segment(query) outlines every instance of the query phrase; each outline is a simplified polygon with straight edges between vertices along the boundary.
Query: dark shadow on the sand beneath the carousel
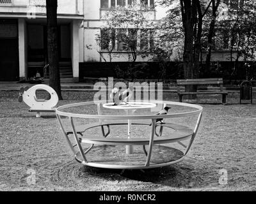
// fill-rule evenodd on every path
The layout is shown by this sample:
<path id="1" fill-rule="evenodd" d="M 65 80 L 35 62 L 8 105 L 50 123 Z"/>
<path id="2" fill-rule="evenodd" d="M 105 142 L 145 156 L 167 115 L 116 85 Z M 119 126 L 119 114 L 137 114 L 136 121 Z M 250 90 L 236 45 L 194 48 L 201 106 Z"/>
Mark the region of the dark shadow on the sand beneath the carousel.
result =
<path id="1" fill-rule="evenodd" d="M 102 179 L 136 180 L 179 188 L 197 187 L 200 186 L 200 182 L 202 182 L 200 174 L 198 172 L 195 173 L 195 171 L 193 171 L 193 167 L 180 164 L 148 170 L 124 171 L 83 166 L 81 167 L 81 171 Z"/>

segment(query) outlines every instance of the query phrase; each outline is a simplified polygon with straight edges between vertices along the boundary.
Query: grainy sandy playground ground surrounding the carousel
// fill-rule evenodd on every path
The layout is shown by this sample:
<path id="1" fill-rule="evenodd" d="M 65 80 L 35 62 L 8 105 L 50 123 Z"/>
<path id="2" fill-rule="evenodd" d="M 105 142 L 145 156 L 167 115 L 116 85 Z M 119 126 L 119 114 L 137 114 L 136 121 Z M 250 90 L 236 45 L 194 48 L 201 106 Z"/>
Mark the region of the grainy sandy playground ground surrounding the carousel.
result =
<path id="1" fill-rule="evenodd" d="M 59 105 L 90 101 L 93 94 L 63 92 Z M 202 123 L 184 161 L 122 174 L 77 163 L 54 113 L 36 119 L 28 106 L 17 102 L 17 91 L 1 91 L 0 96 L 1 191 L 256 190 L 256 106 L 237 104 L 238 94 L 229 94 L 232 104 L 227 106 L 202 105 Z M 177 96 L 169 93 L 164 99 L 177 101 Z M 220 98 L 212 96 L 209 101 L 215 100 Z M 223 185 L 219 182 L 222 169 L 227 170 Z"/>

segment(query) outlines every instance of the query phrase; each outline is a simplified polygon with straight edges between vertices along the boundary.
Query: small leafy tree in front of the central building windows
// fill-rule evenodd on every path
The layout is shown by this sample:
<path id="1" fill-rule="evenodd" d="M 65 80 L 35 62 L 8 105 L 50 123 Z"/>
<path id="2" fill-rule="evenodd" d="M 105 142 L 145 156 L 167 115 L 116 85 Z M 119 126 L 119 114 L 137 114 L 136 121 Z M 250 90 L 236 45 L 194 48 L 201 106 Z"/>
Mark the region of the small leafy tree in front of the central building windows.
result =
<path id="1" fill-rule="evenodd" d="M 127 52 L 129 62 L 136 61 L 138 54 L 141 53 L 137 49 L 140 46 L 137 43 L 138 33 L 148 29 L 146 10 L 147 8 L 138 4 L 117 6 L 115 10 L 109 10 L 102 17 L 106 24 L 102 27 L 101 34 L 97 34 L 96 41 L 101 49 L 108 51 L 109 60 L 116 48 L 116 51 Z"/>

